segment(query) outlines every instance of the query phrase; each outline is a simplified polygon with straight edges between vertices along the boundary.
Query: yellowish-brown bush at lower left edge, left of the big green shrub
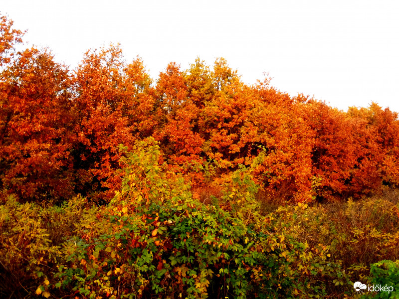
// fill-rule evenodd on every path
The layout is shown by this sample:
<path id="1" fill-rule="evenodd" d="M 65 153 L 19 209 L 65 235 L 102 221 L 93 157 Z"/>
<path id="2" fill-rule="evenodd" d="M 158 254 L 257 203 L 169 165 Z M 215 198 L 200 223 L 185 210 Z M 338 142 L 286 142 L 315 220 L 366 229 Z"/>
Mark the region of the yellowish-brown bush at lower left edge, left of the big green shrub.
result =
<path id="1" fill-rule="evenodd" d="M 2 297 L 25 298 L 38 283 L 47 286 L 63 261 L 63 242 L 102 226 L 95 217 L 98 208 L 86 204 L 79 196 L 62 206 L 20 204 L 10 196 L 0 205 L 0 267 L 6 274 L 0 280 Z M 50 295 L 44 287 L 38 293 Z"/>

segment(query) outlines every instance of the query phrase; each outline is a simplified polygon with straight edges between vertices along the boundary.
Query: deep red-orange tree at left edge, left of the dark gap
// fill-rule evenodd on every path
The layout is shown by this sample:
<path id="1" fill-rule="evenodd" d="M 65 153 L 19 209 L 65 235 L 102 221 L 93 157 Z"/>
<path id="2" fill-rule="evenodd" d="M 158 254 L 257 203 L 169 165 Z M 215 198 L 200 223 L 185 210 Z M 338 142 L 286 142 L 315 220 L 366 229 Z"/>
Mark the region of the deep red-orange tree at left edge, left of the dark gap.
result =
<path id="1" fill-rule="evenodd" d="M 26 49 L 1 73 L 0 93 L 1 189 L 23 201 L 69 197 L 67 68 L 48 50 Z"/>

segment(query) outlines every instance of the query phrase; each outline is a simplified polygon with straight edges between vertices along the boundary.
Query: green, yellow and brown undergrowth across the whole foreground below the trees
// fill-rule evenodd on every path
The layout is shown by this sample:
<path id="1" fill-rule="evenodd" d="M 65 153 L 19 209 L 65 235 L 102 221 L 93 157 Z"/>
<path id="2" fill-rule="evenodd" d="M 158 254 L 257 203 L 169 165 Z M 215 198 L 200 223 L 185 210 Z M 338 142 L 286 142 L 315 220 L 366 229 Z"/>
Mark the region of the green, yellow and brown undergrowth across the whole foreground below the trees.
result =
<path id="1" fill-rule="evenodd" d="M 121 151 L 122 188 L 106 206 L 0 206 L 1 297 L 357 298 L 356 281 L 398 285 L 395 190 L 281 206 L 254 165 L 192 189 L 159 164 L 153 139 Z"/>

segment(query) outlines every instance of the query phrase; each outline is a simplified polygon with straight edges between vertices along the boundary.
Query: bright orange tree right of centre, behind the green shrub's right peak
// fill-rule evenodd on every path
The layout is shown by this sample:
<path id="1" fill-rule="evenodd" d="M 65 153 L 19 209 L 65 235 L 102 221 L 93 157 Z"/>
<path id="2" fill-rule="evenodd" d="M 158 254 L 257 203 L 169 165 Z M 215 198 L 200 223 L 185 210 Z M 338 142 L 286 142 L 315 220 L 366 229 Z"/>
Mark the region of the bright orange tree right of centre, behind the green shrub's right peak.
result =
<path id="1" fill-rule="evenodd" d="M 253 132 L 247 141 L 252 140 L 252 147 L 260 147 L 264 154 L 256 177 L 282 201 L 310 201 L 313 132 L 303 117 L 307 98 L 291 98 L 268 84 L 266 80 L 254 88 L 258 107 L 252 114 Z"/>

